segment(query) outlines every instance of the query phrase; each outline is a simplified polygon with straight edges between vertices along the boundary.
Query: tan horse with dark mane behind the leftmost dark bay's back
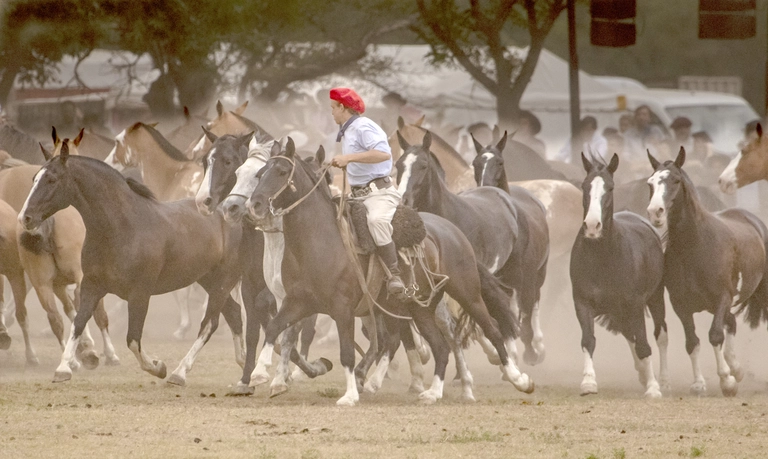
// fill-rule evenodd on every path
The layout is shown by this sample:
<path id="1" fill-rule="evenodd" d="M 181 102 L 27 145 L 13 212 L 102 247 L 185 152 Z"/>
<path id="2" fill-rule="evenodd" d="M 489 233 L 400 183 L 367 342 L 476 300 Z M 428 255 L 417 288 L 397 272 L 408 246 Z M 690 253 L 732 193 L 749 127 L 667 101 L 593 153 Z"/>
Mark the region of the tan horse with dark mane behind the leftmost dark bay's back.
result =
<path id="1" fill-rule="evenodd" d="M 153 125 L 135 123 L 115 137 L 105 160 L 117 170 L 135 167 L 144 184 L 161 201 L 194 196 L 203 179 L 203 167 L 190 161 Z"/>

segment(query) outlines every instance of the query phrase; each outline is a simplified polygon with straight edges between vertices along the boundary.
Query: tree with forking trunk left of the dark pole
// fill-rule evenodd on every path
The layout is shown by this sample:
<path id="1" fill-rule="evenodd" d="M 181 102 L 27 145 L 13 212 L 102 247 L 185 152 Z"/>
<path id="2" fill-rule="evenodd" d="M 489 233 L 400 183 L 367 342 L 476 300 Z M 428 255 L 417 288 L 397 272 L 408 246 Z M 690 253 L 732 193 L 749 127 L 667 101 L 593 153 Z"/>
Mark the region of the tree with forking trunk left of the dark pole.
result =
<path id="1" fill-rule="evenodd" d="M 456 63 L 496 96 L 499 124 L 514 123 L 520 99 L 531 80 L 544 40 L 565 0 L 417 0 L 420 23 L 414 27 L 430 44 L 433 63 Z M 523 58 L 508 49 L 512 29 L 529 39 Z"/>

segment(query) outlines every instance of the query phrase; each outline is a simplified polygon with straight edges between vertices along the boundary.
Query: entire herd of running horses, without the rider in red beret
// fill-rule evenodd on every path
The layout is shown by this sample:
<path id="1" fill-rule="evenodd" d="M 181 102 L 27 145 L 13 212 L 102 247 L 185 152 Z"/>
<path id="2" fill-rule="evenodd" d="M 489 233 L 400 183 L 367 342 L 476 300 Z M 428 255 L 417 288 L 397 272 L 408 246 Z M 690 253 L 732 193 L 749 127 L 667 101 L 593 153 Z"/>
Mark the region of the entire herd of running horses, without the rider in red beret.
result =
<path id="1" fill-rule="evenodd" d="M 649 153 L 649 178 L 640 183 L 614 183 L 617 155 L 607 161 L 582 154 L 583 180 L 568 180 L 506 133 L 490 145 L 475 141 L 477 154 L 468 165 L 421 120 L 399 119 L 390 137 L 393 175 L 403 205 L 418 212 L 425 232 L 416 246 L 399 247 L 412 286 L 401 301 L 380 288 L 383 274 L 373 255 L 351 247 L 352 223 L 344 218 L 346 199 L 339 198 L 344 185 L 340 175 L 331 175 L 323 148 L 297 151 L 292 139 L 276 140 L 245 118 L 245 108 L 226 111 L 219 103 L 218 116 L 204 121 L 202 130 L 199 124 L 193 129 L 201 121 L 188 116 L 167 136 L 138 122 L 115 137 L 110 152 L 97 154 L 81 151 L 89 137 L 84 131 L 70 140 L 54 129 L 53 151 L 40 146 L 42 167 L 0 172 L 0 274 L 13 290 L 28 364 L 38 361 L 24 306 L 26 278 L 62 347 L 55 382 L 69 380 L 80 365 L 99 365 L 87 327 L 91 317 L 102 334 L 105 363 L 119 363 L 103 303 L 108 293 L 127 303 L 127 345 L 141 368 L 165 379 L 165 363 L 142 346 L 149 300 L 196 284 L 207 294 L 205 313 L 170 384 L 186 384 L 223 316 L 243 369 L 231 391 L 252 394 L 271 378 L 270 396 L 277 396 L 299 373 L 315 378 L 332 369 L 325 358 L 308 359 L 317 315 L 326 314 L 337 326 L 346 377 L 339 405 L 355 405 L 363 390 L 375 393 L 401 344 L 410 389 L 423 402 L 442 398 L 451 353 L 462 398 L 474 400 L 463 354 L 471 340 L 505 381 L 530 393 L 535 385 L 521 363 L 545 360 L 541 317 L 548 310 L 541 289 L 554 278 L 572 285 L 582 330 L 582 395 L 597 393 L 595 323 L 627 340 L 646 397 L 661 397 L 669 387 L 665 289 L 685 331 L 692 392 L 706 391 L 693 314 L 708 311 L 722 393 L 736 394 L 744 376 L 733 349 L 736 316 L 743 313 L 752 327 L 768 322 L 768 229 L 745 210 L 702 200 L 709 191 L 685 172 L 683 149 L 663 163 Z M 723 172 L 720 187 L 733 192 L 766 176 L 768 140 L 758 128 L 758 137 Z M 74 298 L 69 285 L 75 285 Z M 68 336 L 55 297 L 72 321 Z M 660 354 L 658 379 L 646 311 Z M 355 342 L 356 317 L 370 341 L 365 351 Z M 177 336 L 185 327 L 188 312 Z M 427 389 L 421 338 L 435 361 Z M 10 345 L 0 321 L 0 349 Z M 357 366 L 356 347 L 363 354 Z M 272 377 L 273 353 L 278 364 Z"/>

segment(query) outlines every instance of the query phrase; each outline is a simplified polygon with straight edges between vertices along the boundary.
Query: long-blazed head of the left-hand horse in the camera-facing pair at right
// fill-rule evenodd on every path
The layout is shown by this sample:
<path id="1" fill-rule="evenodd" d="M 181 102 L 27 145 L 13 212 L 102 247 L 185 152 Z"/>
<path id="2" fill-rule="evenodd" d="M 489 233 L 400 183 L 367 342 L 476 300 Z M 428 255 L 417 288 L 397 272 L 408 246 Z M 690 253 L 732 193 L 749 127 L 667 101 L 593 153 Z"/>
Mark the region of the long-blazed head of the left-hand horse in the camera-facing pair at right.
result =
<path id="1" fill-rule="evenodd" d="M 587 176 L 581 185 L 584 206 L 584 237 L 599 239 L 613 218 L 613 174 L 619 167 L 619 155 L 613 154 L 611 162 L 602 159 L 592 161 L 581 153 L 581 161 Z"/>

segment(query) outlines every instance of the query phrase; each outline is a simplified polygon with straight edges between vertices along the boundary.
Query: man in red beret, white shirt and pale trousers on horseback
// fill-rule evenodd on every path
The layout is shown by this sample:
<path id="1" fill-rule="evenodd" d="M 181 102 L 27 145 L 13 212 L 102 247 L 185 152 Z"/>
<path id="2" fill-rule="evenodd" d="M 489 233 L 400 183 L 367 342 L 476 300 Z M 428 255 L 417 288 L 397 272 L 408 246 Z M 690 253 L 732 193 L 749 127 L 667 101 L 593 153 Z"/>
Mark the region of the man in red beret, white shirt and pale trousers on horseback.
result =
<path id="1" fill-rule="evenodd" d="M 352 197 L 360 200 L 368 211 L 368 229 L 376 243 L 376 254 L 389 269 L 387 293 L 398 298 L 405 295 L 400 278 L 397 249 L 392 242 L 392 217 L 402 197 L 392 183 L 392 150 L 387 135 L 365 112 L 363 99 L 349 88 L 333 88 L 330 92 L 331 114 L 339 125 L 336 142 L 341 142 L 341 155 L 331 164 L 346 168 Z"/>

